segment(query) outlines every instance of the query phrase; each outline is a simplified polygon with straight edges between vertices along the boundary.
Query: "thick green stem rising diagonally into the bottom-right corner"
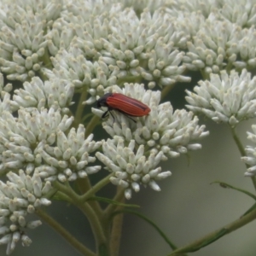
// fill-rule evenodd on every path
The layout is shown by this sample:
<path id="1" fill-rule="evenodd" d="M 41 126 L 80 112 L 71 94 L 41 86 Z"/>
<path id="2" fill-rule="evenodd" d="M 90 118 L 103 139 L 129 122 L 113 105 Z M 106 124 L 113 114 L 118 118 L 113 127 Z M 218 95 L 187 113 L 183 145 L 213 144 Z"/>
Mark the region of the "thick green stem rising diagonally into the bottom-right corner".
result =
<path id="1" fill-rule="evenodd" d="M 222 236 L 225 236 L 232 231 L 235 231 L 244 225 L 252 222 L 256 218 L 256 209 L 254 209 L 252 212 L 247 213 L 247 215 L 242 216 L 239 219 L 236 219 L 234 222 L 225 225 L 223 228 L 220 228 L 218 230 L 215 230 L 214 232 L 208 234 L 207 236 L 202 237 L 201 239 L 194 241 L 190 243 L 189 245 L 185 247 L 180 247 L 177 250 L 173 251 L 169 254 L 169 256 L 177 256 L 181 255 L 181 253 L 191 253 L 195 252 L 202 247 L 206 247 L 207 245 L 211 244 L 213 241 L 218 240 Z"/>

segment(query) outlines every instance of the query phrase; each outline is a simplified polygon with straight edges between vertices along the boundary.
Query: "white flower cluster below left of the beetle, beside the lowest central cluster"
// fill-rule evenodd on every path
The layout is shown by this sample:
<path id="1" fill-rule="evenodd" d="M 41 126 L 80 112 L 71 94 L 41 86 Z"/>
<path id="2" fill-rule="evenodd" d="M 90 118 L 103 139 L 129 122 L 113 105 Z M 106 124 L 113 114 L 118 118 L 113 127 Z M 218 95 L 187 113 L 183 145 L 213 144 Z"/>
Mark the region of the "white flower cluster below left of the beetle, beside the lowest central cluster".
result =
<path id="1" fill-rule="evenodd" d="M 61 182 L 73 181 L 101 169 L 101 166 L 88 165 L 96 160 L 90 153 L 96 151 L 102 143 L 92 141 L 92 134 L 84 139 L 84 134 L 84 125 L 79 125 L 77 131 L 72 128 L 67 136 L 57 129 L 56 146 L 40 148 L 38 152 L 46 165 L 38 166 L 35 170 L 44 180 L 54 181 L 57 178 Z"/>

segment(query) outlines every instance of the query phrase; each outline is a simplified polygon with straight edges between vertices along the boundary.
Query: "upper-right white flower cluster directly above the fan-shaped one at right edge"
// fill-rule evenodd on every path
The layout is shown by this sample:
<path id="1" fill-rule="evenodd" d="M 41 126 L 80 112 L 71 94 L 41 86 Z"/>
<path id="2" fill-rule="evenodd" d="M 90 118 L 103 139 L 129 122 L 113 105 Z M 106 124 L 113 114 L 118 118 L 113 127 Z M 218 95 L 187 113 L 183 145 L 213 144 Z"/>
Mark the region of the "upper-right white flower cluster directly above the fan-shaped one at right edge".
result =
<path id="1" fill-rule="evenodd" d="M 184 64 L 190 70 L 219 73 L 228 63 L 234 65 L 236 62 L 236 45 L 240 39 L 239 26 L 229 20 L 220 21 L 216 15 L 210 15 L 195 37 L 187 43 L 189 51 L 183 57 Z"/>

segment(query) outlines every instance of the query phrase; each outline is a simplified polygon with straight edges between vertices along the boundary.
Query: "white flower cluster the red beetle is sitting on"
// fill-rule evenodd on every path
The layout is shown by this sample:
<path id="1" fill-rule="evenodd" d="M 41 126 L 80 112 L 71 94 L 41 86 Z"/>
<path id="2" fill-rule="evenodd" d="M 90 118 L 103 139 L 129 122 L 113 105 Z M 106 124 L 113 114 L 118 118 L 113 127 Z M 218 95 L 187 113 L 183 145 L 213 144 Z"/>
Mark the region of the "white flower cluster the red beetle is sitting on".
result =
<path id="1" fill-rule="evenodd" d="M 110 115 L 103 123 L 111 137 L 123 137 L 126 142 L 134 139 L 137 144 L 148 147 L 151 153 L 162 152 L 162 160 L 201 148 L 200 144 L 191 142 L 208 135 L 205 125 L 198 125 L 198 118 L 184 109 L 173 113 L 170 102 L 159 104 L 160 91 L 144 90 L 143 84 L 125 84 L 123 90 L 113 86 L 112 91 L 145 103 L 151 112 L 148 116 L 133 118 L 135 123 L 123 113 L 113 111 L 114 120 Z M 92 112 L 100 117 L 104 113 L 96 108 L 92 108 Z"/>

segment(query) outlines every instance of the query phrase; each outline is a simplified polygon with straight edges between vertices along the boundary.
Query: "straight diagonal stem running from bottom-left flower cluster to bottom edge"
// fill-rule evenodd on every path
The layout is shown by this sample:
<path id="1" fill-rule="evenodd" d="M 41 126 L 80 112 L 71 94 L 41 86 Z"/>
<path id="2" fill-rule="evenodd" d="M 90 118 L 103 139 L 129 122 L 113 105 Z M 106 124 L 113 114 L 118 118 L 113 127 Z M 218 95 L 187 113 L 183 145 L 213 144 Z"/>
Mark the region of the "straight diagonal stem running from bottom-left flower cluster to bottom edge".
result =
<path id="1" fill-rule="evenodd" d="M 67 230 L 65 230 L 61 224 L 55 221 L 54 218 L 51 218 L 46 212 L 41 209 L 37 209 L 36 211 L 39 218 L 43 219 L 50 227 L 52 227 L 56 232 L 58 232 L 62 237 L 66 239 L 79 253 L 84 256 L 96 256 L 96 253 L 93 253 L 87 247 L 75 239 Z"/>

